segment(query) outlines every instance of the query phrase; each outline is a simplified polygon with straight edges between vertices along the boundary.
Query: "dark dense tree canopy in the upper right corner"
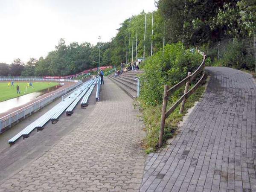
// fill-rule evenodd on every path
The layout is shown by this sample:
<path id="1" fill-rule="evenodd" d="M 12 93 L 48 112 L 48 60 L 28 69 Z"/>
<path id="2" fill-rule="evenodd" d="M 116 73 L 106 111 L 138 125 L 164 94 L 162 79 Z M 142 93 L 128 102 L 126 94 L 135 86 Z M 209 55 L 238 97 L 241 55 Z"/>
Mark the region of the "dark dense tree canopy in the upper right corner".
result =
<path id="1" fill-rule="evenodd" d="M 171 42 L 195 46 L 256 32 L 255 0 L 159 0 L 157 6 Z"/>

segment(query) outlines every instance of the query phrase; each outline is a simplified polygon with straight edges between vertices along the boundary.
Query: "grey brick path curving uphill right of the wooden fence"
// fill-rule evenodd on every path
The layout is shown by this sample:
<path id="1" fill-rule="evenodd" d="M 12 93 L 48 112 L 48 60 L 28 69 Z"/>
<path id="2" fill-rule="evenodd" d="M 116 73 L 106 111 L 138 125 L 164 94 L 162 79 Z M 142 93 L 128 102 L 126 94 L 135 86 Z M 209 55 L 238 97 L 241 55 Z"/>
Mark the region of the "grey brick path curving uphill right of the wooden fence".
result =
<path id="1" fill-rule="evenodd" d="M 256 191 L 256 84 L 226 67 L 166 150 L 146 160 L 140 191 Z"/>

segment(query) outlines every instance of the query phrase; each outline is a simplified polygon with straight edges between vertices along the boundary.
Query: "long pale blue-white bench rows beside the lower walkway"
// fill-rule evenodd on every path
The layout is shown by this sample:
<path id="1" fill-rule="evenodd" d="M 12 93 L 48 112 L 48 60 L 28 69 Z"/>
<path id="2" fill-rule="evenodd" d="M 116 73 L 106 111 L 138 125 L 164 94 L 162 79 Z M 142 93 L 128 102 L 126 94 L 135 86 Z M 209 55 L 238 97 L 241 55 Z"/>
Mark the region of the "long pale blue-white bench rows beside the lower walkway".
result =
<path id="1" fill-rule="evenodd" d="M 66 110 L 67 115 L 71 115 L 73 112 L 73 109 L 76 107 L 77 103 L 80 101 L 80 99 L 84 96 L 87 97 L 87 99 L 83 98 L 82 101 L 86 101 L 90 96 L 90 94 L 93 91 L 93 87 L 95 86 L 96 82 L 99 81 L 99 77 L 96 77 L 95 79 L 90 79 L 89 81 L 83 83 L 80 87 L 78 87 L 76 90 L 73 91 L 69 96 L 67 96 L 65 99 L 63 99 L 61 102 L 59 102 L 57 105 L 55 105 L 52 109 L 44 113 L 41 117 L 36 119 L 34 122 L 32 122 L 30 125 L 28 125 L 26 128 L 24 128 L 22 131 L 20 131 L 18 134 L 16 134 L 14 137 L 12 137 L 10 140 L 8 140 L 9 144 L 14 144 L 15 141 L 17 141 L 20 137 L 23 136 L 23 138 L 29 137 L 29 134 L 37 128 L 38 130 L 42 130 L 44 128 L 44 125 L 51 120 L 52 124 L 56 123 L 58 121 L 58 117 L 61 116 L 61 114 Z M 90 93 L 89 93 L 90 92 Z"/>

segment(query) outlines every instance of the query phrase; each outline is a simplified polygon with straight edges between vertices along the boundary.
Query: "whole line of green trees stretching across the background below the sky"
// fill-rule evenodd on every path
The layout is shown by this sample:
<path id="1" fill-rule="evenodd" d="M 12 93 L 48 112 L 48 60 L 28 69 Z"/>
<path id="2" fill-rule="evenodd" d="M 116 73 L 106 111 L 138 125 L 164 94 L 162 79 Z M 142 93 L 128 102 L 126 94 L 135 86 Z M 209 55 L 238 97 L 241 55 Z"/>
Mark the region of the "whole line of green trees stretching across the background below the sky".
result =
<path id="1" fill-rule="evenodd" d="M 99 49 L 100 65 L 116 66 L 134 61 L 136 55 L 143 57 L 144 46 L 145 57 L 150 56 L 151 41 L 155 53 L 164 44 L 183 42 L 186 47 L 209 47 L 221 39 L 256 34 L 255 0 L 158 0 L 156 6 L 153 26 L 152 12 L 143 11 L 121 23 L 110 42 L 66 45 L 60 39 L 45 58 L 31 58 L 26 64 L 20 59 L 11 65 L 0 64 L 0 75 L 64 76 L 97 67 Z"/>

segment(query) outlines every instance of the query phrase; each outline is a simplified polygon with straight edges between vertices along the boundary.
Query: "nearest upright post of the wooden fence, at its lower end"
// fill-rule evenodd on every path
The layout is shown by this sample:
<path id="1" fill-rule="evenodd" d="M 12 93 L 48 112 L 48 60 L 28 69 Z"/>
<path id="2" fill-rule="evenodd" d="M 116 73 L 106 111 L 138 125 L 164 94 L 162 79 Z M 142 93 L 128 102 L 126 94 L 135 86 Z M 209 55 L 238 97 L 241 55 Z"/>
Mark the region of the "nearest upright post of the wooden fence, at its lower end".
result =
<path id="1" fill-rule="evenodd" d="M 160 133 L 159 133 L 159 143 L 158 146 L 162 147 L 163 145 L 163 134 L 164 134 L 164 126 L 165 126 L 165 119 L 166 119 L 166 106 L 167 106 L 167 90 L 169 86 L 165 85 L 163 90 L 163 108 L 162 108 L 162 116 L 161 116 L 161 125 L 160 125 Z"/>

